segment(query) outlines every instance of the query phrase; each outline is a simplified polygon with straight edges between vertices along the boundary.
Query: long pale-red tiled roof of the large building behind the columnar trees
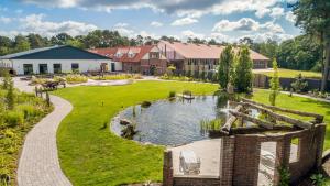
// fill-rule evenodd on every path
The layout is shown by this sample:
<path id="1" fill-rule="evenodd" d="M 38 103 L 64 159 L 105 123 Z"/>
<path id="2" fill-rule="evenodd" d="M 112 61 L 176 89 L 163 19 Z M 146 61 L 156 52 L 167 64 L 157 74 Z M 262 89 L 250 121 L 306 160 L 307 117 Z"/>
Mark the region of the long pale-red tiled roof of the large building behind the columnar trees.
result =
<path id="1" fill-rule="evenodd" d="M 206 45 L 206 44 L 193 44 L 193 43 L 167 42 L 167 41 L 161 41 L 161 42 L 175 50 L 185 58 L 218 59 L 220 57 L 220 54 L 224 50 L 224 46 L 221 45 Z M 252 50 L 250 50 L 250 54 L 252 59 L 268 61 L 267 57 Z"/>

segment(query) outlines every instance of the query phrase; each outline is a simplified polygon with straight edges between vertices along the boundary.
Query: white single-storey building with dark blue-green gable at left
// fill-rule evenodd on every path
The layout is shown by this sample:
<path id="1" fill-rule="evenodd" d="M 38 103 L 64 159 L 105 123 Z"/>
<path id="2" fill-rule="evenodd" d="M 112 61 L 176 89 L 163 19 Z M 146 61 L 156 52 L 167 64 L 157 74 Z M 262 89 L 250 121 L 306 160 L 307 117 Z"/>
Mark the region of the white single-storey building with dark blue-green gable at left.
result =
<path id="1" fill-rule="evenodd" d="M 0 68 L 11 68 L 18 75 L 122 70 L 120 62 L 73 46 L 51 46 L 0 56 Z"/>

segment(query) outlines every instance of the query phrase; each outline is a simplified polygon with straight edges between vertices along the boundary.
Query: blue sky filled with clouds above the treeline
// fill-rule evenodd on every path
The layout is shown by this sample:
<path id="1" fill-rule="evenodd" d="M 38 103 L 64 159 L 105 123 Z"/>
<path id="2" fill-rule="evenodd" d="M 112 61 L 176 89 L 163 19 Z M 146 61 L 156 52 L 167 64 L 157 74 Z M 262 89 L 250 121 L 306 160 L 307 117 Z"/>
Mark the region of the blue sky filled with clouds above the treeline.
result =
<path id="1" fill-rule="evenodd" d="M 66 32 L 85 35 L 96 29 L 122 35 L 179 40 L 199 37 L 237 42 L 278 42 L 301 34 L 288 3 L 296 0 L 0 0 L 0 35 Z"/>

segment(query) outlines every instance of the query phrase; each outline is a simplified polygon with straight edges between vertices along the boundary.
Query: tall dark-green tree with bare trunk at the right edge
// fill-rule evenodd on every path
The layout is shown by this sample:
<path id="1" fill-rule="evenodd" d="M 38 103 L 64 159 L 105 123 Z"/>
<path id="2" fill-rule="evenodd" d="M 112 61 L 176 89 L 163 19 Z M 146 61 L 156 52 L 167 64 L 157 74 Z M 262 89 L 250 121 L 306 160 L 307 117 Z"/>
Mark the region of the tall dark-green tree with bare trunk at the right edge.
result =
<path id="1" fill-rule="evenodd" d="M 321 91 L 327 88 L 330 66 L 330 3 L 329 0 L 300 0 L 293 4 L 296 25 L 315 35 L 322 45 L 323 75 Z"/>

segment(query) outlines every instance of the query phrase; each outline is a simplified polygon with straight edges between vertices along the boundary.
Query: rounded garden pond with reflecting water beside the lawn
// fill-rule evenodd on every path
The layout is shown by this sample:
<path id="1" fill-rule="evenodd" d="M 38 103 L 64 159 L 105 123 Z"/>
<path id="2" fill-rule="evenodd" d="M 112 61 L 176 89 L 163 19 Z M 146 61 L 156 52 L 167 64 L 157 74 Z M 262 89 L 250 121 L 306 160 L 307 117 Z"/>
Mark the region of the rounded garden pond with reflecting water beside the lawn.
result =
<path id="1" fill-rule="evenodd" d="M 202 127 L 204 121 L 221 119 L 223 123 L 230 108 L 227 100 L 216 96 L 160 100 L 148 108 L 140 105 L 127 108 L 112 120 L 111 130 L 121 135 L 124 127 L 120 121 L 125 119 L 135 124 L 135 141 L 162 145 L 186 144 L 209 139 Z"/>

